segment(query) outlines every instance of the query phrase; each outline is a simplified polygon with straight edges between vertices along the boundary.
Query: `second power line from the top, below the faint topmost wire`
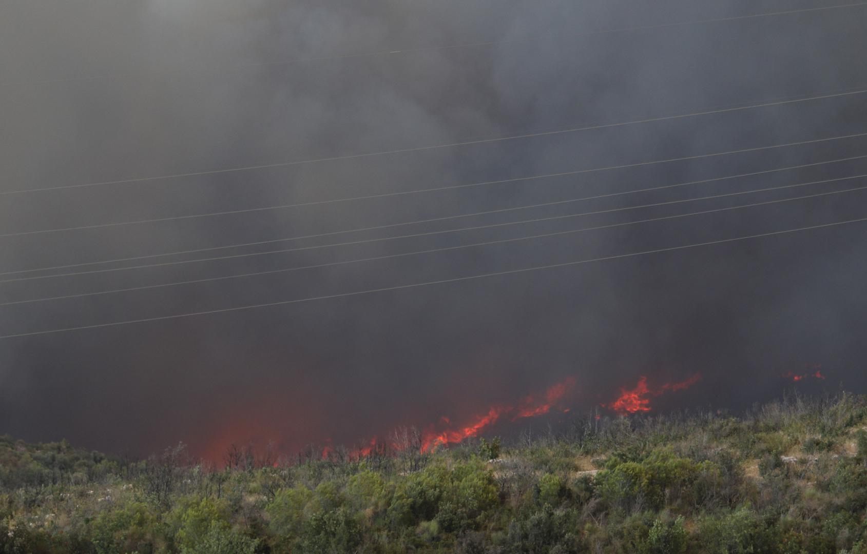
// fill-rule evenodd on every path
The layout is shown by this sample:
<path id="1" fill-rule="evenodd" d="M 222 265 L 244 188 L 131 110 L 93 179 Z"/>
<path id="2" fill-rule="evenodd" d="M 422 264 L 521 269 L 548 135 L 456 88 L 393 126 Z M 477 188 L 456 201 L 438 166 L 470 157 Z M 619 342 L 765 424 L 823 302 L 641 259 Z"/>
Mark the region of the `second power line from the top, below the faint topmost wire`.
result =
<path id="1" fill-rule="evenodd" d="M 160 176 L 156 176 L 156 177 L 139 177 L 139 178 L 134 178 L 134 179 L 120 179 L 120 180 L 114 180 L 114 181 L 82 183 L 79 185 L 46 186 L 46 187 L 42 187 L 42 188 L 21 189 L 21 190 L 16 190 L 16 191 L 3 191 L 3 192 L 0 192 L 0 195 L 3 195 L 3 194 L 24 194 L 24 193 L 29 193 L 29 192 L 49 192 L 49 191 L 58 191 L 58 190 L 66 190 L 66 189 L 74 189 L 74 188 L 83 188 L 83 187 L 89 187 L 89 186 L 108 186 L 108 185 L 121 185 L 121 184 L 127 184 L 127 183 L 143 183 L 143 182 L 154 181 L 154 180 L 159 180 L 159 179 L 179 179 L 179 178 L 183 178 L 183 177 L 197 177 L 197 176 L 201 176 L 201 175 L 214 175 L 214 174 L 218 174 L 218 173 L 238 173 L 238 172 L 244 172 L 244 171 L 251 171 L 251 170 L 255 170 L 255 169 L 267 169 L 267 168 L 272 168 L 272 167 L 299 166 L 299 165 L 305 165 L 305 164 L 323 163 L 323 162 L 327 162 L 327 161 L 357 160 L 357 159 L 362 159 L 362 158 L 385 156 L 385 155 L 398 154 L 398 153 L 414 153 L 414 152 L 424 152 L 424 151 L 438 150 L 438 149 L 444 149 L 444 148 L 465 147 L 465 146 L 471 146 L 471 145 L 475 145 L 475 144 L 489 144 L 492 142 L 499 142 L 499 141 L 503 141 L 503 140 L 530 139 L 530 138 L 542 137 L 542 136 L 553 136 L 553 135 L 557 135 L 557 134 L 577 133 L 580 131 L 592 131 L 592 130 L 597 130 L 597 129 L 605 129 L 605 128 L 613 128 L 613 127 L 626 127 L 629 125 L 639 125 L 642 123 L 653 123 L 653 122 L 657 122 L 657 121 L 679 120 L 679 119 L 686 119 L 686 118 L 690 118 L 690 117 L 699 117 L 702 115 L 726 114 L 726 113 L 731 113 L 731 112 L 736 112 L 736 111 L 746 110 L 746 109 L 771 108 L 773 106 L 783 106 L 786 104 L 796 104 L 796 103 L 806 102 L 806 101 L 827 100 L 830 98 L 840 98 L 840 97 L 851 96 L 851 95 L 863 95 L 864 93 L 867 93 L 867 88 L 859 88 L 856 90 L 831 93 L 831 94 L 804 96 L 804 97 L 799 97 L 799 98 L 796 98 L 793 100 L 770 101 L 770 102 L 766 101 L 766 102 L 762 102 L 759 104 L 750 104 L 750 105 L 740 106 L 740 107 L 736 107 L 736 108 L 720 108 L 720 109 L 713 109 L 713 110 L 704 110 L 704 111 L 699 111 L 699 112 L 691 112 L 688 114 L 664 115 L 664 116 L 660 116 L 660 117 L 652 117 L 652 118 L 646 118 L 646 119 L 641 119 L 641 120 L 621 121 L 621 122 L 616 122 L 616 123 L 605 123 L 605 124 L 590 125 L 590 126 L 585 126 L 585 127 L 571 127 L 571 128 L 567 128 L 567 129 L 558 129 L 558 130 L 553 130 L 553 131 L 541 131 L 538 133 L 515 134 L 515 135 L 510 135 L 510 136 L 500 136 L 500 137 L 489 138 L 489 139 L 463 140 L 463 141 L 452 142 L 452 143 L 447 143 L 447 144 L 430 145 L 427 147 L 401 148 L 401 149 L 397 149 L 397 150 L 385 150 L 385 151 L 371 152 L 371 153 L 348 154 L 348 155 L 341 155 L 341 156 L 331 156 L 331 157 L 327 157 L 327 158 L 315 158 L 315 159 L 310 159 L 310 160 L 287 161 L 287 162 L 280 162 L 280 163 L 275 163 L 275 164 L 264 164 L 264 165 L 258 165 L 258 166 L 230 167 L 230 168 L 225 168 L 225 169 L 212 169 L 212 170 L 207 170 L 207 171 L 191 172 L 191 173 L 174 173 L 171 175 L 160 175 Z"/>

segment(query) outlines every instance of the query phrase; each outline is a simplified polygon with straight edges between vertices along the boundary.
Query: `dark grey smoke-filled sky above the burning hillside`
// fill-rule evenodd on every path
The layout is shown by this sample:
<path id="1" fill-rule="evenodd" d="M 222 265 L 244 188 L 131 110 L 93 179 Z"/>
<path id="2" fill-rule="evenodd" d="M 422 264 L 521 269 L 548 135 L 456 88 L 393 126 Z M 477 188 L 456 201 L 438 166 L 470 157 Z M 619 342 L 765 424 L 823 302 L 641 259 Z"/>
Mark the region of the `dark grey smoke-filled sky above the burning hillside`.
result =
<path id="1" fill-rule="evenodd" d="M 28 335 L 867 218 L 867 5 L 809 10 L 835 5 L 3 3 L 0 335 L 26 336 L 0 339 L 0 433 L 218 459 L 463 425 L 570 377 L 570 414 L 642 376 L 701 375 L 655 410 L 863 392 L 864 222 Z"/>

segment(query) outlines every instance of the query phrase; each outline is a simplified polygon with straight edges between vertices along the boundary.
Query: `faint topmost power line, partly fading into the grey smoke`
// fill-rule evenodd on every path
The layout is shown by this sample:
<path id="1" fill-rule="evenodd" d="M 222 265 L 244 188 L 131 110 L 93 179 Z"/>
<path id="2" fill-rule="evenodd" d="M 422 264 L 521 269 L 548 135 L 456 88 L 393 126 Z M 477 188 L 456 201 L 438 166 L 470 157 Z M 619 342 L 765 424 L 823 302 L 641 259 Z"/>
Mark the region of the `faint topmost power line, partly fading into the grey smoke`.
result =
<path id="1" fill-rule="evenodd" d="M 687 25 L 699 25 L 706 23 L 724 23 L 729 21 L 739 21 L 745 19 L 754 19 L 759 17 L 772 17 L 772 16 L 788 16 L 788 15 L 796 15 L 802 13 L 808 13 L 813 11 L 825 11 L 825 10 L 843 10 L 847 8 L 857 8 L 867 5 L 867 2 L 858 2 L 858 3 L 845 3 L 838 4 L 833 6 L 821 6 L 818 8 L 805 8 L 800 10 L 783 10 L 783 11 L 772 11 L 760 14 L 749 14 L 746 16 L 730 16 L 730 17 L 714 17 L 710 19 L 695 19 L 691 21 L 683 21 L 683 22 L 675 22 L 675 23 L 659 23 L 655 25 L 639 25 L 635 27 L 619 27 L 614 29 L 601 29 L 596 31 L 585 31 L 579 33 L 565 33 L 568 36 L 600 36 L 600 35 L 609 35 L 612 33 L 623 33 L 623 32 L 633 32 L 640 30 L 652 30 L 652 29 L 666 29 L 670 27 L 682 27 Z M 231 66 L 211 66 L 212 69 L 225 69 L 227 67 L 232 68 L 252 68 L 252 67 L 264 67 L 264 66 L 275 66 L 275 65 L 290 65 L 294 63 L 308 63 L 308 62 L 328 62 L 328 61 L 337 61 L 337 60 L 347 60 L 352 58 L 364 58 L 364 57 L 375 57 L 381 55 L 407 55 L 407 54 L 417 54 L 420 52 L 433 52 L 440 50 L 452 50 L 452 49 L 465 49 L 465 48 L 478 48 L 478 47 L 486 47 L 486 46 L 497 46 L 499 44 L 510 44 L 516 42 L 538 42 L 548 38 L 551 35 L 564 35 L 564 33 L 549 33 L 546 35 L 540 36 L 528 36 L 524 38 L 517 39 L 504 39 L 499 41 L 482 41 L 482 42 L 463 42 L 460 44 L 451 44 L 446 46 L 427 46 L 427 47 L 416 47 L 416 48 L 404 48 L 404 49 L 388 49 L 388 50 L 375 50 L 370 52 L 362 52 L 359 54 L 337 54 L 337 55 L 321 55 L 321 56 L 308 56 L 308 57 L 299 57 L 293 58 L 290 60 L 281 60 L 275 62 L 251 62 L 251 63 L 239 63 L 233 64 Z M 39 81 L 19 81 L 19 82 L 8 82 L 8 83 L 0 83 L 0 87 L 13 87 L 13 86 L 24 86 L 24 85 L 41 85 L 41 84 L 51 84 L 51 83 L 61 83 L 61 82 L 72 82 L 72 81 L 100 81 L 100 80 L 108 80 L 108 79 L 121 79 L 124 77 L 128 77 L 131 75 L 135 75 L 133 73 L 127 74 L 117 74 L 117 75 L 88 75 L 81 77 L 67 77 L 62 79 L 42 79 Z M 190 75 L 188 70 L 180 72 L 180 75 Z"/>

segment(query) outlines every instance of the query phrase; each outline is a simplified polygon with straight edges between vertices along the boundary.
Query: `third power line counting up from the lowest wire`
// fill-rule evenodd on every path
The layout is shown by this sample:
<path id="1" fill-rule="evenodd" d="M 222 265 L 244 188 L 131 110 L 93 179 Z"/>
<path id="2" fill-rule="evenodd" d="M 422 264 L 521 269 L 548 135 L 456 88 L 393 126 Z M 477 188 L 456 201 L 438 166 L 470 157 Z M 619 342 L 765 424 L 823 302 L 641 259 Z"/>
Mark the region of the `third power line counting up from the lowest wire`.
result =
<path id="1" fill-rule="evenodd" d="M 760 172 L 760 173 L 764 173 L 764 172 Z M 526 224 L 531 224 L 531 223 L 541 223 L 544 221 L 555 221 L 558 219 L 578 218 L 578 217 L 590 216 L 590 215 L 600 215 L 603 213 L 625 212 L 628 210 L 638 210 L 638 209 L 642 209 L 642 208 L 658 207 L 661 205 L 674 205 L 674 204 L 682 204 L 685 202 L 696 202 L 699 200 L 720 199 L 720 198 L 727 198 L 727 197 L 732 197 L 732 196 L 740 196 L 743 194 L 752 194 L 755 192 L 779 191 L 779 190 L 784 190 L 784 189 L 788 189 L 788 188 L 795 188 L 795 187 L 799 187 L 799 186 L 820 185 L 823 183 L 832 183 L 832 182 L 838 182 L 838 181 L 849 180 L 849 179 L 861 179 L 864 177 L 867 177 L 867 173 L 864 173 L 861 175 L 854 175 L 851 177 L 838 177 L 835 179 L 821 179 L 821 180 L 817 180 L 817 181 L 808 181 L 805 183 L 796 183 L 793 185 L 772 186 L 772 187 L 766 187 L 766 188 L 760 188 L 760 189 L 753 189 L 753 190 L 749 190 L 749 191 L 726 192 L 723 194 L 714 194 L 712 196 L 702 196 L 702 197 L 698 197 L 698 198 L 694 198 L 694 199 L 671 200 L 668 202 L 655 202 L 653 204 L 631 205 L 631 206 L 620 207 L 620 208 L 611 208 L 608 210 L 597 210 L 595 212 L 571 213 L 571 214 L 561 215 L 561 216 L 551 216 L 548 218 L 534 218 L 534 219 L 524 219 L 524 220 L 520 220 L 520 221 L 508 221 L 505 223 L 495 223 L 495 224 L 489 224 L 489 225 L 475 225 L 472 227 L 462 227 L 460 229 L 445 229 L 442 231 L 427 231 L 427 232 L 420 232 L 420 233 L 414 233 L 414 234 L 409 234 L 409 235 L 399 235 L 397 237 L 367 238 L 367 239 L 362 239 L 362 240 L 348 241 L 348 242 L 335 243 L 335 244 L 319 244 L 316 246 L 299 246 L 296 248 L 288 248 L 288 249 L 276 250 L 276 251 L 252 252 L 249 254 L 235 254 L 235 255 L 231 255 L 231 256 L 205 257 L 205 258 L 199 258 L 199 259 L 194 259 L 194 260 L 179 260 L 177 262 L 165 262 L 165 263 L 161 263 L 161 264 L 133 265 L 133 266 L 129 266 L 129 267 L 110 268 L 110 269 L 106 269 L 106 270 L 76 271 L 76 272 L 70 272 L 70 273 L 60 273 L 60 274 L 55 274 L 55 275 L 45 275 L 45 276 L 36 276 L 36 277 L 16 277 L 16 278 L 11 278 L 11 279 L 0 280 L 0 284 L 12 283 L 12 282 L 18 282 L 18 281 L 32 281 L 32 280 L 49 279 L 49 278 L 55 278 L 55 277 L 74 277 L 74 276 L 78 276 L 78 275 L 90 275 L 93 273 L 108 273 L 108 272 L 114 272 L 114 271 L 139 270 L 139 269 L 145 269 L 145 268 L 151 268 L 151 267 L 165 267 L 165 266 L 169 266 L 169 265 L 195 264 L 195 263 L 199 263 L 199 262 L 214 262 L 214 261 L 225 260 L 225 259 L 237 259 L 240 257 L 266 256 L 266 255 L 270 255 L 270 254 L 284 254 L 287 252 L 310 251 L 310 250 L 318 250 L 321 248 L 333 248 L 336 246 L 351 246 L 351 245 L 355 245 L 355 244 L 369 244 L 369 243 L 375 243 L 375 242 L 383 242 L 383 241 L 387 241 L 387 240 L 398 240 L 401 238 L 430 237 L 433 235 L 441 235 L 441 234 L 452 233 L 452 232 L 479 231 L 480 229 L 492 229 L 492 228 L 496 228 L 496 227 L 505 227 L 505 226 L 509 226 L 509 225 L 526 225 Z M 720 180 L 720 179 L 727 179 L 727 178 L 707 179 L 707 180 Z M 701 182 L 701 181 L 698 181 L 698 182 Z M 686 183 L 686 184 L 690 184 L 690 183 Z M 681 185 L 684 185 L 684 184 L 681 184 Z M 671 185 L 671 186 L 679 186 L 679 185 Z M 661 186 L 661 187 L 657 187 L 657 188 L 667 188 L 667 187 L 671 187 L 671 186 Z M 649 190 L 654 190 L 654 189 L 644 189 L 644 190 L 649 191 Z M 603 196 L 608 196 L 608 195 L 603 195 Z"/>

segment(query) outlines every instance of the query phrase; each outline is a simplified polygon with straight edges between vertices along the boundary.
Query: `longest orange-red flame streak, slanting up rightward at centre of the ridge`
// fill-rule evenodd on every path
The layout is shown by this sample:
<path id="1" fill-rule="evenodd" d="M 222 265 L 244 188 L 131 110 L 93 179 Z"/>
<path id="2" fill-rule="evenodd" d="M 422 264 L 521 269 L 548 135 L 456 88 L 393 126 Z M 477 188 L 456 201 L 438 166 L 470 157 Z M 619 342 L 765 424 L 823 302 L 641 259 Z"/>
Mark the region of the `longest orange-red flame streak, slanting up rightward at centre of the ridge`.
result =
<path id="1" fill-rule="evenodd" d="M 563 382 L 549 388 L 544 394 L 544 399 L 537 399 L 531 394 L 520 401 L 518 406 L 492 406 L 486 414 L 477 415 L 464 427 L 449 428 L 439 432 L 431 428 L 421 438 L 421 451 L 427 452 L 435 446 L 457 444 L 471 437 L 476 437 L 486 427 L 491 427 L 505 415 L 512 415 L 512 421 L 514 421 L 521 418 L 548 414 L 551 408 L 562 401 L 564 396 L 575 387 L 575 383 L 575 377 L 569 377 Z M 440 421 L 450 426 L 448 418 L 443 417 Z"/>

